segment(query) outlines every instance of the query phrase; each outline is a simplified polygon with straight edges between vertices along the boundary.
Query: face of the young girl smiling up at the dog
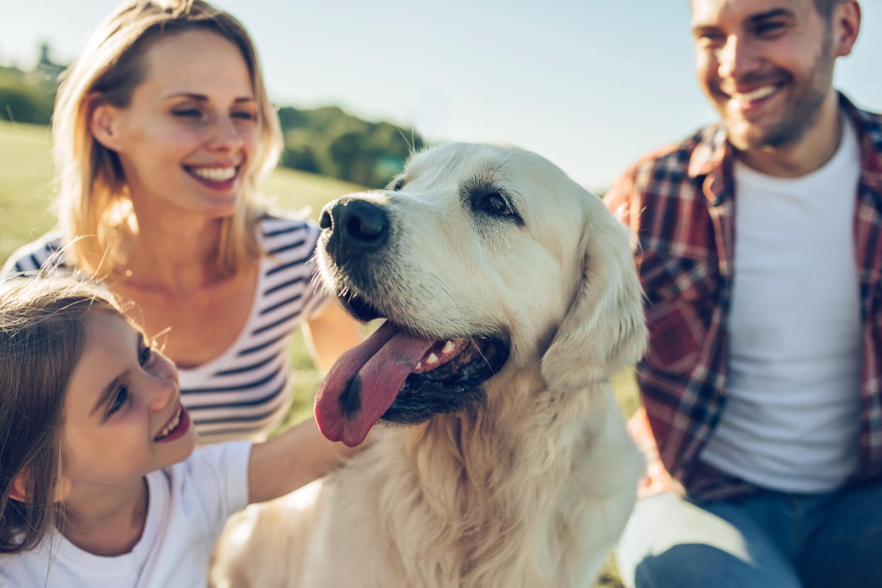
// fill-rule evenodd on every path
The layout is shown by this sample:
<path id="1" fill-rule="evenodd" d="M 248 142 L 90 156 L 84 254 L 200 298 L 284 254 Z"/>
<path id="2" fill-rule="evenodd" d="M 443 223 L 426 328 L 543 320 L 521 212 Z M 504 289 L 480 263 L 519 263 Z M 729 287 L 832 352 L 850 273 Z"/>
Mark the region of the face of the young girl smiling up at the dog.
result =
<path id="1" fill-rule="evenodd" d="M 115 312 L 86 320 L 64 401 L 64 478 L 74 488 L 110 487 L 189 457 L 196 431 L 175 364 Z"/>

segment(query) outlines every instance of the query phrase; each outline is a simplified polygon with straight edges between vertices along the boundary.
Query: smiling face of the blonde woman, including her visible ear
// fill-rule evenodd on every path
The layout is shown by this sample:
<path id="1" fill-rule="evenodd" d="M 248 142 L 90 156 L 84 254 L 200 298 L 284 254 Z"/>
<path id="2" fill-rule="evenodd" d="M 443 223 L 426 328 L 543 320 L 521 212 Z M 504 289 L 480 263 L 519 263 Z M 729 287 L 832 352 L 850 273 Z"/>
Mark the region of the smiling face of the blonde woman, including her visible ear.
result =
<path id="1" fill-rule="evenodd" d="M 96 108 L 92 129 L 115 151 L 139 220 L 233 214 L 258 140 L 258 102 L 232 41 L 204 30 L 149 43 L 126 108 Z"/>

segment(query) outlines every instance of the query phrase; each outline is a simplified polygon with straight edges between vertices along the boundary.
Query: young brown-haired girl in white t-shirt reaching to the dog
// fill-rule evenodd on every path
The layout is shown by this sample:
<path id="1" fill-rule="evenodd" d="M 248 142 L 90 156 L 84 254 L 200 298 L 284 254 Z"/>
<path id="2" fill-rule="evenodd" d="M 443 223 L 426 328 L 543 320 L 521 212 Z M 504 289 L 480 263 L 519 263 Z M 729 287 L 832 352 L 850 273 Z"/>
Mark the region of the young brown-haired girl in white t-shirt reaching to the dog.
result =
<path id="1" fill-rule="evenodd" d="M 195 450 L 175 364 L 97 286 L 0 284 L 0 585 L 204 586 L 227 517 L 348 456 L 314 421 Z"/>

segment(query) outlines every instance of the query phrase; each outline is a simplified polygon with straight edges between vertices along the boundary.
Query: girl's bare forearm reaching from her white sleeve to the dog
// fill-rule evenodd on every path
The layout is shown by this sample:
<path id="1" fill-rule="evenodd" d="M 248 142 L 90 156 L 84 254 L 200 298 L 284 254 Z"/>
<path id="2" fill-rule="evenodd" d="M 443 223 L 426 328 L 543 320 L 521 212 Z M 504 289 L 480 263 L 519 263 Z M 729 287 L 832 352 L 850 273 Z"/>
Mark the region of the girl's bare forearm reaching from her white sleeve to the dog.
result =
<path id="1" fill-rule="evenodd" d="M 265 443 L 255 443 L 248 464 L 248 502 L 286 495 L 321 478 L 363 447 L 325 439 L 314 419 L 303 421 Z"/>

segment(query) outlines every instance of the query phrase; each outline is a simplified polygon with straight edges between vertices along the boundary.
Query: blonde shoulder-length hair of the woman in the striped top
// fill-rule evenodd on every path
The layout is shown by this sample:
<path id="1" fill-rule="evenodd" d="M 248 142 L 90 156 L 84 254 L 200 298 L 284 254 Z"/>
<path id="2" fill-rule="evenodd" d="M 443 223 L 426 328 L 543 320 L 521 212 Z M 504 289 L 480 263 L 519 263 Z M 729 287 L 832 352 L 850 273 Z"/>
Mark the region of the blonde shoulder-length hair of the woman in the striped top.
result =
<path id="1" fill-rule="evenodd" d="M 93 110 L 102 103 L 127 107 L 133 90 L 146 76 L 144 54 L 149 43 L 192 29 L 209 30 L 235 43 L 250 71 L 258 104 L 258 150 L 235 213 L 221 221 L 217 269 L 221 275 L 231 275 L 258 257 L 255 184 L 279 158 L 281 131 L 266 95 L 254 43 L 238 20 L 202 0 L 134 0 L 98 27 L 65 72 L 52 118 L 58 217 L 64 239 L 70 243 L 68 254 L 86 275 L 112 270 L 121 259 L 123 229 L 133 224 L 119 158 L 90 130 Z M 81 236 L 87 238 L 77 239 Z"/>

